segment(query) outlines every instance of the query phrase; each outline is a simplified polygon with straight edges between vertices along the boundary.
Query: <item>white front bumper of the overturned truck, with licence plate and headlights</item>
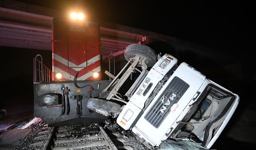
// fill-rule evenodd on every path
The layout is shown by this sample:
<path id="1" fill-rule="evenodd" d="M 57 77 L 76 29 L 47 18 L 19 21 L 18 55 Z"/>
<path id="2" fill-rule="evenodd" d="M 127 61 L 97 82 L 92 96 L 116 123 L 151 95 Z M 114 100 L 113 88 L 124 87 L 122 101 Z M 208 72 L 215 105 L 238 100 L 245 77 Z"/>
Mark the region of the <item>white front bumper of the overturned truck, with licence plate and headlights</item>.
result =
<path id="1" fill-rule="evenodd" d="M 123 108 L 117 122 L 121 123 L 120 126 L 128 130 L 134 121 L 145 108 L 145 103 L 151 96 L 152 91 L 156 86 L 160 86 L 159 82 L 163 80 L 164 76 L 176 68 L 178 60 L 169 54 L 165 54 L 162 58 L 151 68 L 144 81 L 138 86 L 138 89 L 130 98 L 129 102 Z M 163 83 L 162 83 L 163 84 Z M 159 87 L 160 88 L 160 87 Z M 123 116 L 123 117 L 120 117 Z"/>

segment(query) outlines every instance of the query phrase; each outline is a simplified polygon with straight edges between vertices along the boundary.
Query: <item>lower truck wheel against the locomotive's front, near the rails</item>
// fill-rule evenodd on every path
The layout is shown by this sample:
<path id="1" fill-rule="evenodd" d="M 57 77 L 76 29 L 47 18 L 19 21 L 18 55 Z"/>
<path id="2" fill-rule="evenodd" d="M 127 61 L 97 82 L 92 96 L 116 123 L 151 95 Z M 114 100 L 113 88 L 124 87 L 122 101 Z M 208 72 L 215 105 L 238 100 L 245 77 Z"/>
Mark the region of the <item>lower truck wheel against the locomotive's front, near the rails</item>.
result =
<path id="1" fill-rule="evenodd" d="M 104 116 L 111 116 L 121 112 L 119 104 L 98 98 L 90 98 L 87 102 L 87 108 Z"/>

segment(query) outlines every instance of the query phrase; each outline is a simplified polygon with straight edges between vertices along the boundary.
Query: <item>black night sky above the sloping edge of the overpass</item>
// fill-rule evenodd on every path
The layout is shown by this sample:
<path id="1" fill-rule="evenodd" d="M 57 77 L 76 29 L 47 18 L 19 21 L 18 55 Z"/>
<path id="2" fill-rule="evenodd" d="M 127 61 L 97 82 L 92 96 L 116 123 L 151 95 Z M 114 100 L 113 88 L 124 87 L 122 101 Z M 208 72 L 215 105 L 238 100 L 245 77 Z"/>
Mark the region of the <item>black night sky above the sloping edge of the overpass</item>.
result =
<path id="1" fill-rule="evenodd" d="M 153 31 L 222 49 L 253 46 L 253 5 L 242 1 L 18 0 L 67 11 L 83 10 L 88 19 Z M 247 48 L 248 48 L 247 47 Z"/>

